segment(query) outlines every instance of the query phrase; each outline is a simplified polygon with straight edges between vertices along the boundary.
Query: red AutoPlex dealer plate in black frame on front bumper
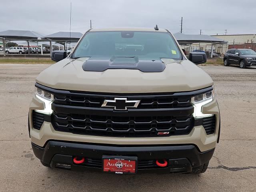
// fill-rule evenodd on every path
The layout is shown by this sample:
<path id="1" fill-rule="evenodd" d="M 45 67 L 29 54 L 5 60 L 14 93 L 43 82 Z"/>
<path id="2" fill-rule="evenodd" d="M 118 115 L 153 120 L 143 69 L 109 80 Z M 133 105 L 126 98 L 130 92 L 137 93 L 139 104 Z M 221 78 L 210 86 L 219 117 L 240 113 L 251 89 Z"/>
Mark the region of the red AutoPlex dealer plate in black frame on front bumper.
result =
<path id="1" fill-rule="evenodd" d="M 118 163 L 118 165 L 116 165 Z M 115 164 L 115 166 L 113 166 Z M 135 166 L 135 168 L 134 168 Z M 102 156 L 102 171 L 114 174 L 136 174 L 138 157 L 133 156 Z"/>

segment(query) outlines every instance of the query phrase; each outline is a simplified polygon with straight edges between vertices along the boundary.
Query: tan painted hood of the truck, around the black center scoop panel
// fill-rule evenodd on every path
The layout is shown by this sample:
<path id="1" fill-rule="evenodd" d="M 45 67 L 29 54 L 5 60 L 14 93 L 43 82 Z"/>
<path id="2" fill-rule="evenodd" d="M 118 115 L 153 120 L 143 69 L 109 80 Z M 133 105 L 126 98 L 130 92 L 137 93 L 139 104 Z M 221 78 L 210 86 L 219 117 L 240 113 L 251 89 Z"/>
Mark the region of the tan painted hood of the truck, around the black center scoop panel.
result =
<path id="1" fill-rule="evenodd" d="M 83 70 L 88 59 L 66 58 L 42 71 L 36 82 L 56 89 L 109 93 L 181 92 L 213 85 L 210 76 L 189 60 L 162 58 L 162 72 L 122 68 L 99 72 Z"/>

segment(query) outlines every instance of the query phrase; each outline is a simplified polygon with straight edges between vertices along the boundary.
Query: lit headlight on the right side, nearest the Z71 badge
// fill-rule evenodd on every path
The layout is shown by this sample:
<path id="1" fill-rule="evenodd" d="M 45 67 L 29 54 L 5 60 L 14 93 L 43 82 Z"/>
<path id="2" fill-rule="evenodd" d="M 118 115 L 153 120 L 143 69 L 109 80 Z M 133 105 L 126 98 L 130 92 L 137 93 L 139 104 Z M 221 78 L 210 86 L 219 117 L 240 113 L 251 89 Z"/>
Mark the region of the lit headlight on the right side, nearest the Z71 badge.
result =
<path id="1" fill-rule="evenodd" d="M 199 95 L 196 95 L 191 98 L 191 102 L 194 106 L 194 117 L 195 118 L 200 118 L 200 117 L 206 117 L 206 116 L 213 116 L 213 114 L 203 114 L 202 113 L 202 106 L 205 104 L 208 104 L 212 102 L 214 99 L 214 87 L 212 86 L 212 90 L 202 93 Z"/>

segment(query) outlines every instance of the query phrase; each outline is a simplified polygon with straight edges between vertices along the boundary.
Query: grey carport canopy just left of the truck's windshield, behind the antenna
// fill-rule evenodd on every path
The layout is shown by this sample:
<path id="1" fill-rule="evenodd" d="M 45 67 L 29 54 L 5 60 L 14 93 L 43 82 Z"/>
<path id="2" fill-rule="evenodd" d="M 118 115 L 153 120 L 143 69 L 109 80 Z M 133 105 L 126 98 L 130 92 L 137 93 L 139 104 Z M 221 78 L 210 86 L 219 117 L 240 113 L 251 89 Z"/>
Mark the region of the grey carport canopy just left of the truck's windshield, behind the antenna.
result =
<path id="1" fill-rule="evenodd" d="M 50 40 L 60 40 L 60 41 L 75 41 L 78 42 L 78 40 L 82 37 L 82 33 L 80 32 L 57 32 L 50 35 L 46 35 L 43 38 L 44 39 L 50 39 Z"/>

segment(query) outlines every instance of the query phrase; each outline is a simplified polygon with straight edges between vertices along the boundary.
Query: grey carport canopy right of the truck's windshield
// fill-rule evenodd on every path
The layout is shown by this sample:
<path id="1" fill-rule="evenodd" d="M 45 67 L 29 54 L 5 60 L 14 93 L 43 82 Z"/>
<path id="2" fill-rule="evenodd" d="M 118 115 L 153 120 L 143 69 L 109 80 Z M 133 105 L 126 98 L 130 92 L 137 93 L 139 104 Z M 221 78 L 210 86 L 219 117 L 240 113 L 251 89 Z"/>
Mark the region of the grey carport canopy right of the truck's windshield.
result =
<path id="1" fill-rule="evenodd" d="M 209 35 L 188 35 L 183 33 L 173 34 L 180 45 L 192 43 L 225 43 L 224 40 Z"/>

